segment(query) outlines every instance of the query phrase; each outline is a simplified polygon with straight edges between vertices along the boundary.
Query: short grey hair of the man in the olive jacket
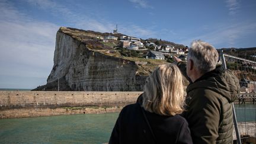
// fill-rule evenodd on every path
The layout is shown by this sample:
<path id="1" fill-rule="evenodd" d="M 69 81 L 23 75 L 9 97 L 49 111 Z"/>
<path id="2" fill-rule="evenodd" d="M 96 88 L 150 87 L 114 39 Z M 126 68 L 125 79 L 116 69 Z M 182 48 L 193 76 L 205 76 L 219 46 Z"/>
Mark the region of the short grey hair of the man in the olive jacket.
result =
<path id="1" fill-rule="evenodd" d="M 216 68 L 219 54 L 215 47 L 201 40 L 194 40 L 188 49 L 188 59 L 193 60 L 194 65 L 201 73 L 212 71 Z"/>

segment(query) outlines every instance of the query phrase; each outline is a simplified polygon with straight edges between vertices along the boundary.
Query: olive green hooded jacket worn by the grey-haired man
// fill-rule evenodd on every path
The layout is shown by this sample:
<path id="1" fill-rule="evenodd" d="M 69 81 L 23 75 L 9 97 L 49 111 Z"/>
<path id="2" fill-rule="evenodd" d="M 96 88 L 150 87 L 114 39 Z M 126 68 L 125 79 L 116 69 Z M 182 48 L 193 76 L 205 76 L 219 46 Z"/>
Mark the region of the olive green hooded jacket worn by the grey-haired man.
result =
<path id="1" fill-rule="evenodd" d="M 185 74 L 185 63 L 178 63 Z M 187 119 L 193 143 L 233 143 L 232 102 L 239 80 L 229 70 L 217 67 L 187 87 Z"/>

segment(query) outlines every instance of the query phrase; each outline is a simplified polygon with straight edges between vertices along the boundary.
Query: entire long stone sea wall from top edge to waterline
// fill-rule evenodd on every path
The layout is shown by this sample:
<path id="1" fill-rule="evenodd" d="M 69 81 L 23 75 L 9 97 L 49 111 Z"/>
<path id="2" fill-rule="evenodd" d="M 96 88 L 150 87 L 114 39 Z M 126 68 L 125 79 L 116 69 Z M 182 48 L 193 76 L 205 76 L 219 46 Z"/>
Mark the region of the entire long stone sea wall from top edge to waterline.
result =
<path id="1" fill-rule="evenodd" d="M 114 113 L 142 92 L 0 91 L 0 119 Z"/>

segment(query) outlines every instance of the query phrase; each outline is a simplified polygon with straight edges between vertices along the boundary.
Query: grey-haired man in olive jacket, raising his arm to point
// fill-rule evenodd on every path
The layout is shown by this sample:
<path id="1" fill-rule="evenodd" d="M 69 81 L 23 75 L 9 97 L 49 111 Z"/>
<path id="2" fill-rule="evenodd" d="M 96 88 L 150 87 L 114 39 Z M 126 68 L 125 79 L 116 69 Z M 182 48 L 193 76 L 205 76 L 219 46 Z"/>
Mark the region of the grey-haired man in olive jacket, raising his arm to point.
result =
<path id="1" fill-rule="evenodd" d="M 187 87 L 187 119 L 193 143 L 233 143 L 232 102 L 239 80 L 217 65 L 215 47 L 196 40 L 188 49 L 187 63 L 175 57 L 177 66 L 190 81 Z"/>

